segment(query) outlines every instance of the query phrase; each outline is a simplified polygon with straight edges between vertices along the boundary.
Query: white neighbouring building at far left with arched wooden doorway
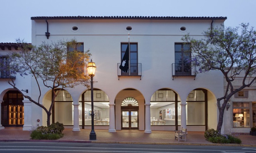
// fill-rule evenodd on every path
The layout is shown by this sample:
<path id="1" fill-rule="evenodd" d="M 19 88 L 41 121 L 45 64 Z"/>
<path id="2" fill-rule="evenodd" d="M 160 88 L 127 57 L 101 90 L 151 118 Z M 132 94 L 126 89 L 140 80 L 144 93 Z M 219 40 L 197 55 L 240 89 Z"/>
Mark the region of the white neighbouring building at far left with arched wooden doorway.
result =
<path id="1" fill-rule="evenodd" d="M 8 56 L 12 52 L 17 52 L 20 45 L 19 43 L 0 43 L 0 63 L 9 64 Z M 13 78 L 19 89 L 24 92 L 31 92 L 30 75 L 14 75 L 10 74 L 8 69 L 0 68 L 0 129 L 5 126 L 23 127 L 25 130 L 31 129 L 31 102 L 24 99 L 22 94 L 9 85 L 10 77 Z M 26 123 L 29 123 L 29 125 Z"/>

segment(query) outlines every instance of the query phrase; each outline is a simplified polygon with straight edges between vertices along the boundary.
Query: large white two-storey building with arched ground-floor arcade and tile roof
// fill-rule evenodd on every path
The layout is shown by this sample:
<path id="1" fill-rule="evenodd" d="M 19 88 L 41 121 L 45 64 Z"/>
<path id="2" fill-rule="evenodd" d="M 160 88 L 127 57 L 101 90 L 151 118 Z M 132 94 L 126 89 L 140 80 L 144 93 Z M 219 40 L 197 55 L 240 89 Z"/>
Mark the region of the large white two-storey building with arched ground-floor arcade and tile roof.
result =
<path id="1" fill-rule="evenodd" d="M 188 131 L 205 131 L 217 127 L 216 98 L 222 97 L 224 93 L 223 75 L 219 71 L 195 75 L 196 68 L 187 64 L 190 58 L 187 52 L 189 45 L 184 44 L 181 38 L 187 33 L 194 38 L 202 38 L 203 31 L 222 27 L 225 19 L 31 17 L 32 44 L 75 38 L 82 44 L 80 50 L 90 50 L 92 61 L 97 66 L 94 76 L 95 129 L 108 129 L 109 132 L 139 129 L 151 133 L 151 130 L 172 131 L 184 127 Z M 122 71 L 119 67 L 125 66 L 122 59 L 126 56 L 126 50 L 130 50 L 130 67 L 128 70 L 123 67 Z M 21 79 L 17 77 L 15 82 Z M 28 79 L 29 82 L 17 86 L 28 89 L 28 94 L 37 98 L 38 89 L 33 86 L 35 82 Z M 4 97 L 10 91 L 10 85 L 5 79 L 0 80 L 0 85 L 3 110 Z M 41 92 L 41 103 L 47 107 L 51 104 L 50 89 L 43 88 Z M 73 131 L 90 129 L 90 95 L 90 89 L 83 86 L 63 90 L 56 98 L 52 122 L 62 122 L 66 128 L 73 128 Z M 23 103 L 24 130 L 46 125 L 46 113 L 39 106 L 27 99 Z M 6 115 L 2 111 L 2 125 L 10 126 L 3 123 Z"/>

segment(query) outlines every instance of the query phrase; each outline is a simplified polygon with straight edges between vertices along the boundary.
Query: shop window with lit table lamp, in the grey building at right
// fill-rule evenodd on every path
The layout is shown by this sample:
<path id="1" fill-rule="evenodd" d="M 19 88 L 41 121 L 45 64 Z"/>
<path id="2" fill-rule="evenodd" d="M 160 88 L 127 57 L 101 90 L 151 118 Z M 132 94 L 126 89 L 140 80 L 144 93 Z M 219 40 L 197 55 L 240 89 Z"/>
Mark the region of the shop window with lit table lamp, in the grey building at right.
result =
<path id="1" fill-rule="evenodd" d="M 233 102 L 233 128 L 250 127 L 250 103 Z"/>

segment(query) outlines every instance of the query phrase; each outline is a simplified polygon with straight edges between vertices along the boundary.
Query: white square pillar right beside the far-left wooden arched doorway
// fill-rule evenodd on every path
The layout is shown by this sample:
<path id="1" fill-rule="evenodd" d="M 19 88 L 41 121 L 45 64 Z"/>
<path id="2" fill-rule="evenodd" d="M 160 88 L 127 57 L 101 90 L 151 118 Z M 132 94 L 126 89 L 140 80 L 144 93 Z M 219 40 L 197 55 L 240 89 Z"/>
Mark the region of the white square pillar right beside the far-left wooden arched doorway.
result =
<path id="1" fill-rule="evenodd" d="M 29 131 L 32 127 L 32 105 L 31 101 L 22 101 L 24 104 L 24 125 L 23 131 Z"/>

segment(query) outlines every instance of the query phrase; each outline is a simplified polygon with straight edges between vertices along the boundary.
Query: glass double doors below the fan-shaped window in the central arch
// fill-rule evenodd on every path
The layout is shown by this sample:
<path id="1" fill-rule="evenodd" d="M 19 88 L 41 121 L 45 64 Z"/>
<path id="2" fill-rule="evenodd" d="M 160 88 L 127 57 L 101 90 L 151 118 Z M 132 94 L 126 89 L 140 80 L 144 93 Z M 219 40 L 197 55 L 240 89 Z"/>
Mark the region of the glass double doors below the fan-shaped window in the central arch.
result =
<path id="1" fill-rule="evenodd" d="M 138 111 L 122 111 L 122 129 L 139 129 Z"/>

